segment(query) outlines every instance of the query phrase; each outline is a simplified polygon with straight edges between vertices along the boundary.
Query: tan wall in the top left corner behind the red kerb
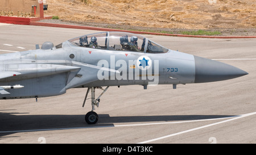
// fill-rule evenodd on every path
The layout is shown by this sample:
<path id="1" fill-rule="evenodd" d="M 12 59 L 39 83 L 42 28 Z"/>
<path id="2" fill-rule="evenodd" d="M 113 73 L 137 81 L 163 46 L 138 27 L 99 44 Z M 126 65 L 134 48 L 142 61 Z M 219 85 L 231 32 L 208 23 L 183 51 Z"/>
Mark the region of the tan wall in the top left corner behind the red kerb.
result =
<path id="1" fill-rule="evenodd" d="M 36 6 L 36 12 L 34 12 L 32 6 Z M 18 11 L 23 13 L 30 12 L 31 16 L 40 16 L 38 0 L 0 0 L 0 10 L 2 12 L 13 11 L 14 16 L 18 15 Z"/>

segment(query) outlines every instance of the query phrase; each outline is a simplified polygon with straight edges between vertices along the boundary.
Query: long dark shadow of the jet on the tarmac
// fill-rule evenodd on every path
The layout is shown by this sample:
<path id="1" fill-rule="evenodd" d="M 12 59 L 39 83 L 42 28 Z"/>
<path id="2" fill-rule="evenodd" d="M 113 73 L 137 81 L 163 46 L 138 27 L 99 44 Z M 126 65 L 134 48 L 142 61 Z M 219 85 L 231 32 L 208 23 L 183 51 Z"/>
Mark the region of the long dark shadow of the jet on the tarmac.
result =
<path id="1" fill-rule="evenodd" d="M 21 130 L 43 130 L 51 128 L 82 128 L 114 126 L 114 123 L 159 122 L 200 120 L 213 118 L 228 118 L 235 115 L 151 115 L 151 116 L 124 116 L 110 117 L 109 114 L 99 114 L 97 124 L 89 125 L 84 115 L 28 115 L 28 113 L 8 113 L 0 110 L 0 139 L 2 136 L 14 134 Z M 23 115 L 26 114 L 26 115 Z M 3 131 L 14 131 L 3 133 Z M 2 132 L 2 133 L 1 133 Z"/>

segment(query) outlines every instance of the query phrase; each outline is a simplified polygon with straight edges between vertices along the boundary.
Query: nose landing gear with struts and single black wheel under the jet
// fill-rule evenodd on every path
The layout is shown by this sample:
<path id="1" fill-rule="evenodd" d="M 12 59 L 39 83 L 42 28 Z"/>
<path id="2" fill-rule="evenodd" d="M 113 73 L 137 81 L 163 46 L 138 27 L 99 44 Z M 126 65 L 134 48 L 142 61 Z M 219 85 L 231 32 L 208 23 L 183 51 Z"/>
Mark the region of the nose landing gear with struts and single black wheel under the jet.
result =
<path id="1" fill-rule="evenodd" d="M 85 115 L 85 122 L 88 123 L 88 124 L 95 124 L 95 123 L 98 122 L 98 114 L 95 113 L 93 110 L 95 110 L 95 108 L 94 108 L 95 106 L 98 107 L 98 105 L 100 104 L 100 97 L 102 96 L 102 94 L 104 94 L 108 90 L 109 86 L 106 87 L 105 89 L 102 89 L 102 87 L 97 87 L 97 88 L 102 89 L 103 92 L 96 99 L 95 99 L 95 88 L 96 87 L 89 87 L 87 89 L 87 92 L 86 92 L 86 95 L 85 95 L 85 98 L 84 98 L 84 103 L 82 104 L 82 107 L 84 107 L 85 101 L 87 100 L 88 93 L 89 93 L 89 91 L 91 91 L 92 92 L 92 98 L 91 98 L 92 99 L 92 111 L 89 111 Z"/>

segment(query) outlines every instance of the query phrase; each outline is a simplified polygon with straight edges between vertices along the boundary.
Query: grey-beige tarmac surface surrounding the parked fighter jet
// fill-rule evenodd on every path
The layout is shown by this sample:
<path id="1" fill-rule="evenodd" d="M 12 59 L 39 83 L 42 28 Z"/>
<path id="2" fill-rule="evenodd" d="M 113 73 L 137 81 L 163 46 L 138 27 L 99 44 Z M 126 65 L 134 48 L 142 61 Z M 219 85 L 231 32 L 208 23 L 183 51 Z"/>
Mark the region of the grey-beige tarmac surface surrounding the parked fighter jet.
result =
<path id="1" fill-rule="evenodd" d="M 97 31 L 0 23 L 0 54 L 54 45 Z M 172 50 L 249 73 L 214 83 L 110 87 L 88 125 L 86 88 L 61 96 L 0 100 L 0 143 L 256 143 L 256 38 L 143 35 Z M 96 96 L 101 93 L 96 89 Z"/>

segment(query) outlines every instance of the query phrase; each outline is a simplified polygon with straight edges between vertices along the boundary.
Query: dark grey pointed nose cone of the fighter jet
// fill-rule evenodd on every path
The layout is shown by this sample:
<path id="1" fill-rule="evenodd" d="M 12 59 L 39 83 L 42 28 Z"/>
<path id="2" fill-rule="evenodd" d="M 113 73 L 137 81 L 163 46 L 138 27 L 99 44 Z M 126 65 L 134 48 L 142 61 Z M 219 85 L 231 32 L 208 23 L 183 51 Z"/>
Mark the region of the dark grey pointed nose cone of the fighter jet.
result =
<path id="1" fill-rule="evenodd" d="M 196 64 L 195 83 L 228 80 L 248 74 L 226 63 L 197 57 L 195 55 L 194 58 Z"/>

